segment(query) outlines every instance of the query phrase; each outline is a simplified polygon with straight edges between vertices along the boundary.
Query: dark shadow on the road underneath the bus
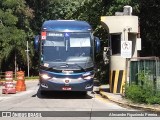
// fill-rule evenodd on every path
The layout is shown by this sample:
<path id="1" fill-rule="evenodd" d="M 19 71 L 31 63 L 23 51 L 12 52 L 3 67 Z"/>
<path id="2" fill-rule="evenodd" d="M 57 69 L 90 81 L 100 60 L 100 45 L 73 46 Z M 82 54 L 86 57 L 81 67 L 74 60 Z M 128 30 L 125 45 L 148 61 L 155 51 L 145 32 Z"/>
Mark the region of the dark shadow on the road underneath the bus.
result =
<path id="1" fill-rule="evenodd" d="M 47 91 L 44 94 L 37 91 L 32 97 L 40 99 L 92 99 L 93 97 L 84 92 L 71 92 L 71 91 Z"/>

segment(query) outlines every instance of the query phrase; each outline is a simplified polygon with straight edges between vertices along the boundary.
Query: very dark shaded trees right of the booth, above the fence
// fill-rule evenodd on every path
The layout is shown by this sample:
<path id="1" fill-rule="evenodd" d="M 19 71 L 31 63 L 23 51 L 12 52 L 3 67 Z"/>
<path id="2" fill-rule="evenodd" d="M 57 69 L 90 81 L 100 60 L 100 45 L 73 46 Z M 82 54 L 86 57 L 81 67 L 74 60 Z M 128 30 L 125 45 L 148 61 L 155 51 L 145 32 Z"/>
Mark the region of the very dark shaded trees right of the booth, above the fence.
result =
<path id="1" fill-rule="evenodd" d="M 160 1 L 141 1 L 140 31 L 142 38 L 141 56 L 160 56 Z"/>

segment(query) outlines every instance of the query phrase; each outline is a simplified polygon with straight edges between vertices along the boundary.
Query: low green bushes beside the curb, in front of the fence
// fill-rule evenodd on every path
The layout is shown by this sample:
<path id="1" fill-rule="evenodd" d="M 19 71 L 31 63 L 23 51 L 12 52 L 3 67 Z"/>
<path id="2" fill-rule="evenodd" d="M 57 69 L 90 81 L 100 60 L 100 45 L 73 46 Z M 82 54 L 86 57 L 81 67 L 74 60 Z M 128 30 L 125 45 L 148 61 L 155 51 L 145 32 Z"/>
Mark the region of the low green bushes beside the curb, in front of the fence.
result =
<path id="1" fill-rule="evenodd" d="M 149 72 L 142 70 L 138 77 L 141 84 L 126 85 L 125 97 L 133 102 L 160 104 L 160 91 L 156 91 L 153 81 L 149 80 Z"/>

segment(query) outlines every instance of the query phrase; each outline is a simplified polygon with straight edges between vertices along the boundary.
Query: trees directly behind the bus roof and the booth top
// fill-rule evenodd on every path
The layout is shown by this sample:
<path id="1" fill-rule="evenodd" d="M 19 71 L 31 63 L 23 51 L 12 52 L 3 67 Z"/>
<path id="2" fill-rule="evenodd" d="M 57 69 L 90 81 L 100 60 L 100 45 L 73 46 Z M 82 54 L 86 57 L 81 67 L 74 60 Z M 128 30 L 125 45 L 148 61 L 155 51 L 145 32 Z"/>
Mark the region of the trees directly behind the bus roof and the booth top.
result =
<path id="1" fill-rule="evenodd" d="M 101 26 L 100 17 L 114 15 L 117 11 L 123 11 L 124 5 L 133 7 L 133 14 L 139 13 L 138 0 L 26 0 L 34 10 L 35 19 L 32 21 L 32 29 L 35 34 L 40 32 L 42 23 L 49 19 L 84 20 L 91 24 L 94 35 L 99 37 L 102 43 L 101 53 L 97 55 L 97 66 L 103 65 L 103 47 L 108 46 L 107 31 Z M 106 69 L 106 68 L 100 68 Z M 100 71 L 101 72 L 101 71 Z"/>

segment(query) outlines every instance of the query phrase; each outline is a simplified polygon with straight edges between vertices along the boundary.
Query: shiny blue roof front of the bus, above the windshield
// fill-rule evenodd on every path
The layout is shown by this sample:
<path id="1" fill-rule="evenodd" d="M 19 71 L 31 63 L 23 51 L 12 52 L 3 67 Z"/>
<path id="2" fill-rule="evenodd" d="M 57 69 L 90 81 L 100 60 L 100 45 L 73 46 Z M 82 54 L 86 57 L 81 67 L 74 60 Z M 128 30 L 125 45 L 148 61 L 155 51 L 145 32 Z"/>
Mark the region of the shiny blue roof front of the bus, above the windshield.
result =
<path id="1" fill-rule="evenodd" d="M 42 25 L 43 31 L 86 32 L 91 31 L 91 26 L 85 21 L 78 20 L 48 20 Z"/>

